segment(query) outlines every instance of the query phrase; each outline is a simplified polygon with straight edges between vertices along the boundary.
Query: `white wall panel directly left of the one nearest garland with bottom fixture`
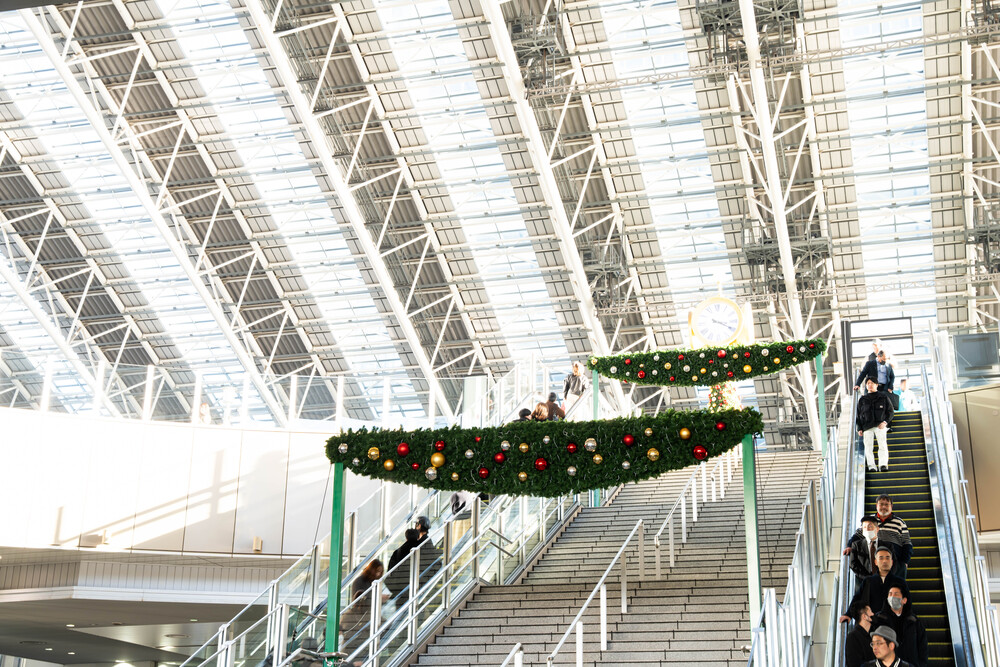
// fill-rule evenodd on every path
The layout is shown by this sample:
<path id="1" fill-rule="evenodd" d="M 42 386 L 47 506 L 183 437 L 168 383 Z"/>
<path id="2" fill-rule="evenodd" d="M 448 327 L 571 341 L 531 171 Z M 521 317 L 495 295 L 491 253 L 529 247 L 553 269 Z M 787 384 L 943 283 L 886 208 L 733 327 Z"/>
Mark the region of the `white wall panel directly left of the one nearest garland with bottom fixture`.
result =
<path id="1" fill-rule="evenodd" d="M 236 429 L 192 429 L 185 551 L 230 553 L 236 529 L 242 434 Z"/>

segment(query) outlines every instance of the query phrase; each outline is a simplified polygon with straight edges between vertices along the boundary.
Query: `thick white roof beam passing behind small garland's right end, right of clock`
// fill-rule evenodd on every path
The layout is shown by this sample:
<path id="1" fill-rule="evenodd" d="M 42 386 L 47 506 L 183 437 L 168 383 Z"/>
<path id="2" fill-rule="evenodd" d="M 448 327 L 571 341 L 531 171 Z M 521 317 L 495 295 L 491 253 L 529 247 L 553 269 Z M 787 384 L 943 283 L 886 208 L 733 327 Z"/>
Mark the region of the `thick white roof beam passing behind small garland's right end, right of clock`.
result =
<path id="1" fill-rule="evenodd" d="M 764 63 L 760 57 L 760 35 L 757 33 L 757 16 L 753 0 L 739 0 L 740 18 L 743 21 L 743 41 L 747 49 L 747 65 L 750 74 L 750 87 L 754 98 L 754 118 L 761 143 L 761 153 L 764 158 L 764 179 L 762 186 L 767 192 L 774 218 L 775 234 L 778 238 L 778 254 L 782 279 L 785 283 L 785 294 L 788 298 L 788 319 L 792 325 L 792 333 L 796 338 L 806 337 L 805 322 L 802 319 L 802 302 L 799 300 L 799 289 L 795 281 L 795 258 L 792 256 L 792 244 L 788 236 L 788 220 L 785 216 L 785 198 L 781 190 L 781 170 L 778 167 L 778 152 L 774 143 L 774 123 L 771 118 L 771 107 L 767 97 L 767 81 L 764 79 Z M 807 392 L 805 399 L 806 416 L 809 420 L 809 431 L 812 435 L 813 448 L 818 449 L 823 434 L 820 433 L 819 411 L 816 405 L 816 387 L 813 383 L 812 370 L 809 364 L 796 367 L 796 372 Z"/>

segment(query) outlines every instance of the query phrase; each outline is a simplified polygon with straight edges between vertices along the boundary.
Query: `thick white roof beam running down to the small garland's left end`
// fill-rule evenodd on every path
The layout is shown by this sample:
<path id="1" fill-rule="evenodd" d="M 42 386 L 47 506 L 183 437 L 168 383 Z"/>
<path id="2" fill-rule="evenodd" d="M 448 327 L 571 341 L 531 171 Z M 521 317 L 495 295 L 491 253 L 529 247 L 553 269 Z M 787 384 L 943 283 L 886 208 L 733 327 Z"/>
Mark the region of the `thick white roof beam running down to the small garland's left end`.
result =
<path id="1" fill-rule="evenodd" d="M 514 45 L 510 40 L 510 33 L 507 32 L 507 22 L 503 17 L 503 9 L 499 3 L 481 3 L 483 16 L 486 18 L 487 30 L 493 41 L 497 56 L 501 62 L 504 81 L 510 94 L 510 104 L 514 108 L 518 124 L 526 139 L 525 151 L 527 151 L 538 175 L 538 185 L 542 191 L 542 198 L 549 206 L 549 213 L 556 237 L 559 240 L 559 247 L 562 250 L 563 260 L 568 269 L 569 283 L 573 288 L 573 295 L 580 304 L 580 317 L 586 325 L 591 345 L 594 352 L 600 356 L 612 354 L 611 343 L 608 341 L 607 333 L 597 316 L 597 309 L 594 306 L 594 298 L 590 292 L 587 273 L 580 259 L 580 251 L 577 250 L 576 241 L 573 238 L 573 226 L 570 223 L 566 207 L 563 205 L 562 197 L 559 194 L 559 184 L 556 182 L 555 173 L 552 171 L 552 163 L 548 158 L 548 150 L 545 147 L 545 139 L 542 137 L 541 129 L 538 127 L 538 120 L 535 112 L 528 104 L 528 95 L 524 87 L 524 80 L 518 68 L 517 54 L 514 52 Z M 626 241 L 627 243 L 627 241 Z M 615 394 L 619 408 L 624 410 L 630 401 L 625 396 L 622 386 L 618 382 L 610 383 L 611 390 Z"/>

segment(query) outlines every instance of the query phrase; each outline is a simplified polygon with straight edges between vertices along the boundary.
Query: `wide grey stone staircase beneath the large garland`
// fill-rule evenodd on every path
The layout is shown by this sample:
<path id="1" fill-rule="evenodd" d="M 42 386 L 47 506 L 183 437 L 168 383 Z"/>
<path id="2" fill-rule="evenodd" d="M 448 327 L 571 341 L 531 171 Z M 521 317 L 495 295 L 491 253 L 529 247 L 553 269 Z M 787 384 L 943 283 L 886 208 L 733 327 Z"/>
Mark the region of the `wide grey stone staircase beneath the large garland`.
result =
<path id="1" fill-rule="evenodd" d="M 758 453 L 763 585 L 783 591 L 803 498 L 819 477 L 812 453 Z M 599 650 L 599 606 L 583 618 L 588 665 L 746 665 L 749 641 L 741 471 L 725 499 L 699 504 L 676 565 L 655 579 L 652 535 L 691 468 L 626 486 L 607 507 L 587 508 L 518 584 L 484 587 L 419 656 L 418 665 L 499 665 L 521 642 L 526 665 L 544 665 L 636 521 L 646 534 L 646 576 L 629 551 L 629 611 L 620 613 L 618 572 L 609 578 L 608 651 Z M 667 558 L 664 557 L 664 563 Z M 575 660 L 572 642 L 556 664 Z"/>

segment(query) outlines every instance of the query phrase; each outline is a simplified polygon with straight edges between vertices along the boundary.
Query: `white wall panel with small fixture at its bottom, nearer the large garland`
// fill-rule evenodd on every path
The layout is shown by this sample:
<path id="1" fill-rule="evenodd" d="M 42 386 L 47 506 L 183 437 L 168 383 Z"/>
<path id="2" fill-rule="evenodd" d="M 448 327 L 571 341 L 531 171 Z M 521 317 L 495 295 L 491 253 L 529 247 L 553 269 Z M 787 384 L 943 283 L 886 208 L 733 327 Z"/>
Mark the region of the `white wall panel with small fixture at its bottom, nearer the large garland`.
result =
<path id="1" fill-rule="evenodd" d="M 233 553 L 253 553 L 254 537 L 264 541 L 262 553 L 281 553 L 287 474 L 287 434 L 243 433 Z"/>

